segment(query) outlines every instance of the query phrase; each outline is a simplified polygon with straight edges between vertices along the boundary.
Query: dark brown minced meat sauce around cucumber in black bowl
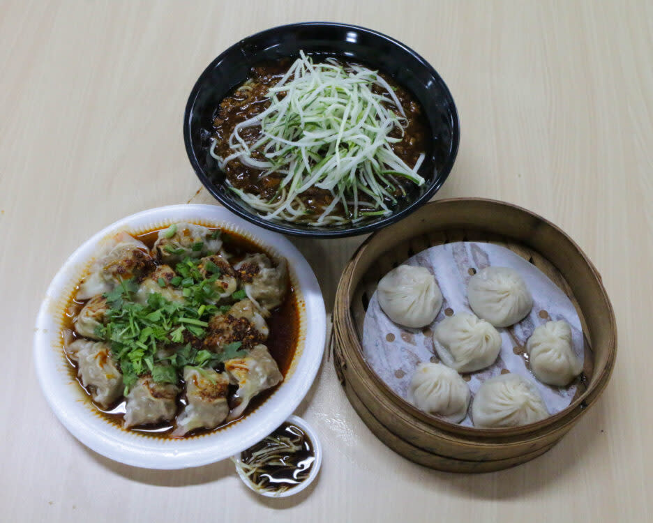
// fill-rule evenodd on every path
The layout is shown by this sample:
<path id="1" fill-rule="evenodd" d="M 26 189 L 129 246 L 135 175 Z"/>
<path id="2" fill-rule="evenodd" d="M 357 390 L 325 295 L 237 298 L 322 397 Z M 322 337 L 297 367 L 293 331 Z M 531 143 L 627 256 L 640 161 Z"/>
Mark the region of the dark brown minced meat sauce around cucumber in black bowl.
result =
<path id="1" fill-rule="evenodd" d="M 269 107 L 269 100 L 266 98 L 268 89 L 279 82 L 291 65 L 291 59 L 281 59 L 253 67 L 246 82 L 246 89 L 241 89 L 241 86 L 220 102 L 213 118 L 213 137 L 217 139 L 214 148 L 216 155 L 227 158 L 233 153 L 229 146 L 229 137 L 235 126 Z M 344 65 L 347 66 L 347 63 Z M 406 89 L 396 84 L 389 75 L 380 73 L 380 76 L 393 88 L 407 118 L 407 128 L 403 137 L 397 129 L 390 133 L 391 137 L 402 138 L 400 142 L 392 144 L 391 147 L 407 165 L 414 167 L 419 155 L 427 150 L 428 124 L 425 115 L 422 113 L 419 103 Z M 379 86 L 374 86 L 373 91 L 382 93 L 384 90 Z M 251 143 L 260 137 L 260 129 L 253 126 L 240 130 L 239 134 L 247 143 Z M 265 160 L 260 151 L 254 151 L 253 158 Z M 243 165 L 238 159 L 227 163 L 224 170 L 227 179 L 235 188 L 266 199 L 271 199 L 276 195 L 278 185 L 284 176 L 283 174 L 261 176 L 262 171 Z M 407 180 L 400 179 L 398 183 L 405 191 L 414 187 L 414 184 Z M 397 197 L 401 194 L 402 191 L 397 189 L 394 196 Z M 299 197 L 303 204 L 314 213 L 321 213 L 333 201 L 331 192 L 316 187 L 309 188 Z M 366 195 L 359 195 L 359 197 L 361 200 L 367 198 Z M 343 212 L 344 209 L 341 206 L 336 207 L 336 213 L 342 215 Z"/>

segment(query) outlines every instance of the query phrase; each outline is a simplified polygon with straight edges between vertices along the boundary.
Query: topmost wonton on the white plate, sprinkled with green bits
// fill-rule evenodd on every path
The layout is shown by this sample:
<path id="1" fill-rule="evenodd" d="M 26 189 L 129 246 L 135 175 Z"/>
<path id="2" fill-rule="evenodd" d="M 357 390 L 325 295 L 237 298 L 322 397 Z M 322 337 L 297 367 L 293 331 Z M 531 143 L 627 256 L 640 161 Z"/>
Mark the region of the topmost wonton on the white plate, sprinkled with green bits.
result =
<path id="1" fill-rule="evenodd" d="M 186 222 L 175 223 L 170 227 L 159 231 L 154 243 L 154 252 L 165 264 L 174 266 L 186 257 L 197 259 L 216 254 L 222 248 L 223 241 L 220 236 L 212 238 L 213 231 L 208 227 Z M 172 230 L 174 234 L 166 238 Z M 197 243 L 202 243 L 202 248 L 193 250 L 193 245 Z"/>

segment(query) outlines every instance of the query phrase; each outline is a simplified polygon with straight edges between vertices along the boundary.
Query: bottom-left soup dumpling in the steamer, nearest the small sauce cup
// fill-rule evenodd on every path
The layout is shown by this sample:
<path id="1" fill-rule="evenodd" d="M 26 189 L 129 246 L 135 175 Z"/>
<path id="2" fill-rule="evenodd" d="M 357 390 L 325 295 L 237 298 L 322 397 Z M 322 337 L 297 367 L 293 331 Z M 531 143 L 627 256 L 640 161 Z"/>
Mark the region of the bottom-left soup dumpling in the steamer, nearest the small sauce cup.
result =
<path id="1" fill-rule="evenodd" d="M 467 416 L 470 387 L 455 370 L 441 363 L 420 363 L 408 387 L 408 400 L 420 410 L 451 423 Z"/>

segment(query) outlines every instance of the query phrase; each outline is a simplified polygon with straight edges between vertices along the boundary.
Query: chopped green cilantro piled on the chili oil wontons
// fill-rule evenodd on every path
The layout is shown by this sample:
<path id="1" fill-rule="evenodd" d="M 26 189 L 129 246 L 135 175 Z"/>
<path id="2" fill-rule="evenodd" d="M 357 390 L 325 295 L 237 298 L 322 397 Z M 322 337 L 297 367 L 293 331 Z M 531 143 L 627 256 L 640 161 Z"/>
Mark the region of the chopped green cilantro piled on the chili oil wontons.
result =
<path id="1" fill-rule="evenodd" d="M 165 234 L 170 230 L 170 227 L 165 229 Z M 195 247 L 200 243 L 193 244 L 193 248 L 202 249 L 203 244 Z M 165 250 L 174 254 L 187 252 L 172 245 L 166 245 Z M 200 271 L 200 264 L 204 264 L 206 275 Z M 105 324 L 96 328 L 96 334 L 111 345 L 112 357 L 123 374 L 125 395 L 145 374 L 151 374 L 157 382 L 178 383 L 184 366 L 215 368 L 221 362 L 246 354 L 239 350 L 241 342 L 221 347 L 220 354 L 201 347 L 200 350 L 190 343 L 180 347 L 189 341 L 185 340 L 189 335 L 193 340 L 204 338 L 211 317 L 226 314 L 231 305 L 218 305 L 223 296 L 213 282 L 219 277 L 220 268 L 212 261 L 186 257 L 175 266 L 175 273 L 170 285 L 181 288 L 185 298 L 181 303 L 170 301 L 158 292 L 149 294 L 147 303 L 137 303 L 139 285 L 133 278 L 121 281 L 116 289 L 103 295 L 110 308 L 105 314 Z M 165 278 L 156 281 L 161 288 L 168 285 Z M 245 291 L 236 291 L 231 301 L 245 296 Z"/>

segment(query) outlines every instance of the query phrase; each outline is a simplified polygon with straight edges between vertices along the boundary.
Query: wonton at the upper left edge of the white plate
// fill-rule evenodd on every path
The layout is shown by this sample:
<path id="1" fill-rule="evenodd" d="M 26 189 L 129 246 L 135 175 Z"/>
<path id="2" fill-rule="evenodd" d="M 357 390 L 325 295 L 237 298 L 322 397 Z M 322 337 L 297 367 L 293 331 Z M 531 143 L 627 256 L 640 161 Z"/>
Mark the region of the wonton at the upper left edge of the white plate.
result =
<path id="1" fill-rule="evenodd" d="M 147 245 L 126 232 L 114 235 L 93 262 L 91 272 L 77 291 L 78 300 L 88 300 L 112 291 L 121 280 L 139 278 L 154 268 Z"/>

